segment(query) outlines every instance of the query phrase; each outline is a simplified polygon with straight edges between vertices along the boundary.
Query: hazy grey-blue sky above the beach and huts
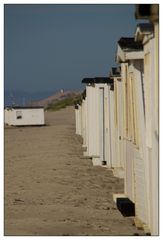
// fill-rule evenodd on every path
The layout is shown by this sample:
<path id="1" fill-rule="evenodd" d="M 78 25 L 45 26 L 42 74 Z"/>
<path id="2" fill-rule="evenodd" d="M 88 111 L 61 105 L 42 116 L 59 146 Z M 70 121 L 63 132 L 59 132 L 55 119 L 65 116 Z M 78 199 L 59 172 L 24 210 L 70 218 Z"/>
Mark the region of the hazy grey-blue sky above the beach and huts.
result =
<path id="1" fill-rule="evenodd" d="M 108 76 L 135 5 L 5 5 L 5 90 L 80 89 Z"/>

